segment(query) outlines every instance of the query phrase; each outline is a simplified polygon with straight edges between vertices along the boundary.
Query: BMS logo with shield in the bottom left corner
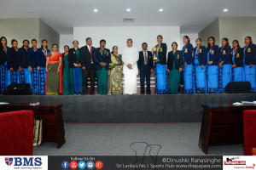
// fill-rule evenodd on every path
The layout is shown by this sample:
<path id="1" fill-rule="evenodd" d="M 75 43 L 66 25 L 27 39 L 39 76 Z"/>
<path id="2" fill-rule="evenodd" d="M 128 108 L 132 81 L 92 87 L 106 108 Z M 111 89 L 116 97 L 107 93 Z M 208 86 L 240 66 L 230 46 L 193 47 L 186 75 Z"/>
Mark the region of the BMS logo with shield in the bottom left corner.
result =
<path id="1" fill-rule="evenodd" d="M 6 157 L 5 163 L 8 166 L 14 164 L 14 166 L 41 166 L 41 157 Z"/>

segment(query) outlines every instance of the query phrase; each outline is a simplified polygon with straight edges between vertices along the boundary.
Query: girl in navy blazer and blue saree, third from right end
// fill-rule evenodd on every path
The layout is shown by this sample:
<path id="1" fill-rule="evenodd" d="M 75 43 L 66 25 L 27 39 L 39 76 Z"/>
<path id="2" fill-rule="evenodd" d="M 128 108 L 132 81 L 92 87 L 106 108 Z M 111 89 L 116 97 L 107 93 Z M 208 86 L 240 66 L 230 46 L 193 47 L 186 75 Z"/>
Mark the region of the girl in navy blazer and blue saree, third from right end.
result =
<path id="1" fill-rule="evenodd" d="M 228 38 L 222 39 L 222 47 L 219 48 L 219 93 L 224 93 L 224 88 L 232 81 L 231 48 Z"/>

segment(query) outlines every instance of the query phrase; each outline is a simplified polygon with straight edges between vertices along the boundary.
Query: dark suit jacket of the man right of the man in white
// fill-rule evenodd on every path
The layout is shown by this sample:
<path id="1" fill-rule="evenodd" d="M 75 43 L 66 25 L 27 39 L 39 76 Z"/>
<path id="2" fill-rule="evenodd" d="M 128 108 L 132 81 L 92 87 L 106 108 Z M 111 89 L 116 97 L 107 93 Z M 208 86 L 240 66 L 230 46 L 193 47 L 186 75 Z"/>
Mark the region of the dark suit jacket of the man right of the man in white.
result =
<path id="1" fill-rule="evenodd" d="M 154 62 L 153 62 L 153 56 L 150 51 L 148 51 L 148 64 L 144 65 L 144 54 L 143 51 L 139 52 L 139 59 L 137 60 L 137 68 L 141 71 L 150 71 L 154 67 Z"/>

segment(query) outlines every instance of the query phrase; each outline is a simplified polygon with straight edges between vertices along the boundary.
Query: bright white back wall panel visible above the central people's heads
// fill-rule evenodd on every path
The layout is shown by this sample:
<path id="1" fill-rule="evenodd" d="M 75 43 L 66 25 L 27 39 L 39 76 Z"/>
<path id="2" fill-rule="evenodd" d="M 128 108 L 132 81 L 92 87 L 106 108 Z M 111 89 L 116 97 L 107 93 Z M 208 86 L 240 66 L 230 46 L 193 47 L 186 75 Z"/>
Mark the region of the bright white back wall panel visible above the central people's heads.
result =
<path id="1" fill-rule="evenodd" d="M 119 47 L 119 53 L 126 47 L 128 38 L 133 39 L 133 46 L 142 49 L 142 43 L 148 43 L 148 50 L 151 50 L 156 37 L 163 36 L 163 42 L 167 44 L 167 50 L 171 50 L 172 42 L 180 44 L 179 26 L 114 26 L 114 27 L 74 27 L 73 39 L 79 41 L 79 47 L 84 46 L 86 37 L 91 37 L 93 46 L 98 48 L 100 40 L 107 41 L 106 48 L 112 49 L 114 45 Z"/>

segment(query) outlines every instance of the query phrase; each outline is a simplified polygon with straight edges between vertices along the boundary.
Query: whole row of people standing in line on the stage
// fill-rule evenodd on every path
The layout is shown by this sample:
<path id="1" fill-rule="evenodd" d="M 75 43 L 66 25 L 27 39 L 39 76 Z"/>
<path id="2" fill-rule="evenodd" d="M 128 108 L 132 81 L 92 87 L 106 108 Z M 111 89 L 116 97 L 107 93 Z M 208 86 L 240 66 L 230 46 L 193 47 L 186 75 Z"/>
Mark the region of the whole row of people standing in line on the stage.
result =
<path id="1" fill-rule="evenodd" d="M 97 82 L 97 94 L 137 94 L 139 74 L 141 94 L 151 94 L 150 76 L 154 72 L 155 94 L 178 94 L 182 85 L 185 94 L 224 93 L 231 81 L 250 82 L 252 92 L 256 92 L 256 45 L 251 37 L 245 38 L 244 48 L 240 48 L 237 40 L 230 48 L 227 38 L 223 38 L 222 47 L 218 48 L 214 37 L 208 38 L 207 48 L 197 38 L 193 48 L 189 37 L 185 36 L 182 51 L 177 50 L 177 42 L 172 42 L 172 51 L 168 54 L 166 43 L 162 41 L 159 35 L 154 54 L 148 50 L 146 42 L 139 52 L 128 39 L 127 47 L 119 54 L 117 46 L 113 46 L 112 52 L 105 48 L 104 39 L 100 41 L 100 48 L 94 48 L 88 37 L 84 47 L 79 48 L 75 40 L 73 48 L 66 45 L 61 54 L 57 44 L 49 51 L 45 39 L 41 48 L 37 48 L 35 39 L 32 39 L 32 48 L 28 40 L 23 41 L 21 48 L 12 40 L 12 48 L 9 48 L 7 39 L 1 37 L 0 90 L 4 93 L 11 83 L 30 83 L 32 94 L 94 94 Z"/>

